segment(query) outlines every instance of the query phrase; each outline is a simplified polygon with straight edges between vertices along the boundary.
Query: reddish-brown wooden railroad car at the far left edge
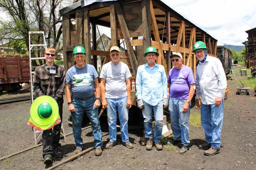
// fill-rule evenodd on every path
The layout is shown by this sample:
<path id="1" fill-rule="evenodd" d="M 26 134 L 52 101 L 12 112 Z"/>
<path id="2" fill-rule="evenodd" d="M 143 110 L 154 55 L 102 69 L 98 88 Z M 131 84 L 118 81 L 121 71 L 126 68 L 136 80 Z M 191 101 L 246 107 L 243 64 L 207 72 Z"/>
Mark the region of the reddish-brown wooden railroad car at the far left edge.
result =
<path id="1" fill-rule="evenodd" d="M 0 57 L 0 93 L 20 90 L 29 77 L 29 58 Z"/>

